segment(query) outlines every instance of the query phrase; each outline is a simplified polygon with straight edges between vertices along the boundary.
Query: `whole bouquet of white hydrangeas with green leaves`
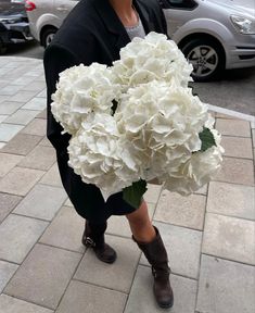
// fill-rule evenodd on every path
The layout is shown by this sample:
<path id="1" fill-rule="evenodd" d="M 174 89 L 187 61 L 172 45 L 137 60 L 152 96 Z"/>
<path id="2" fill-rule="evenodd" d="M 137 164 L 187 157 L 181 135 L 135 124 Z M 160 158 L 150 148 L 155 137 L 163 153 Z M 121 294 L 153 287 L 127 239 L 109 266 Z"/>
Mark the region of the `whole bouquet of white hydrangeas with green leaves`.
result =
<path id="1" fill-rule="evenodd" d="M 120 60 L 60 74 L 52 113 L 72 135 L 69 166 L 104 199 L 138 208 L 146 181 L 190 195 L 218 172 L 224 149 L 207 107 L 192 95 L 192 66 L 162 34 L 135 38 Z"/>

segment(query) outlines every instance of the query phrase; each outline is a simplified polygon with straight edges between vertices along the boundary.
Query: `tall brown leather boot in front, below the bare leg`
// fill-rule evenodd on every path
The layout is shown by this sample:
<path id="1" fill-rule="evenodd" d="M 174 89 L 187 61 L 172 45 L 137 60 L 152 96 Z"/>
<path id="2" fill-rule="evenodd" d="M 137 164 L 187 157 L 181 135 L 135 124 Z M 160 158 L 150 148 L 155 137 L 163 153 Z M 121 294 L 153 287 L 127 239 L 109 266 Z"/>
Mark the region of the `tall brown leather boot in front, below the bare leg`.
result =
<path id="1" fill-rule="evenodd" d="M 156 237 L 149 243 L 139 242 L 133 237 L 138 247 L 146 256 L 149 263 L 152 265 L 152 275 L 154 277 L 153 291 L 161 308 L 171 308 L 174 304 L 174 293 L 170 287 L 167 252 L 162 241 L 161 235 L 156 227 Z"/>

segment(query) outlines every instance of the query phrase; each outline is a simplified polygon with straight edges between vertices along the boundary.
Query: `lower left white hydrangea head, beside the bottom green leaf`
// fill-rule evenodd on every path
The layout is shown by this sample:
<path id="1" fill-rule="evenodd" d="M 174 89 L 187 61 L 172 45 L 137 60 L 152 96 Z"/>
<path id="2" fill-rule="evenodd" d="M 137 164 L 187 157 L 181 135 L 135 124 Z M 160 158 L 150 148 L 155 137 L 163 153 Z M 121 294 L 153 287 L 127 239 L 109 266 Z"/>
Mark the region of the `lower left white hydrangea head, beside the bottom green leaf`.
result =
<path id="1" fill-rule="evenodd" d="M 131 146 L 118 134 L 113 116 L 90 115 L 72 137 L 69 166 L 82 181 L 97 185 L 105 198 L 139 180 L 138 162 Z"/>

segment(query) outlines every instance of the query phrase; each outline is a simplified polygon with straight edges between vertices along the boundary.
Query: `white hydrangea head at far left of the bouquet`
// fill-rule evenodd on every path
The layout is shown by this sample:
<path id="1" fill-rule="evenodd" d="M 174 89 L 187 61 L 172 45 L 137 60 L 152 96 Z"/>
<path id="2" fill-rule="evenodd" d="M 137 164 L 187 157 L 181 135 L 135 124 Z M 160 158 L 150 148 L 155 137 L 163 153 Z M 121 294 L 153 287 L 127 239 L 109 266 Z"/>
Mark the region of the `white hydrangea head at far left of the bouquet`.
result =
<path id="1" fill-rule="evenodd" d="M 80 64 L 60 74 L 55 93 L 52 95 L 52 113 L 64 130 L 74 135 L 82 120 L 91 112 L 111 113 L 112 101 L 119 97 L 119 86 L 106 65 Z"/>

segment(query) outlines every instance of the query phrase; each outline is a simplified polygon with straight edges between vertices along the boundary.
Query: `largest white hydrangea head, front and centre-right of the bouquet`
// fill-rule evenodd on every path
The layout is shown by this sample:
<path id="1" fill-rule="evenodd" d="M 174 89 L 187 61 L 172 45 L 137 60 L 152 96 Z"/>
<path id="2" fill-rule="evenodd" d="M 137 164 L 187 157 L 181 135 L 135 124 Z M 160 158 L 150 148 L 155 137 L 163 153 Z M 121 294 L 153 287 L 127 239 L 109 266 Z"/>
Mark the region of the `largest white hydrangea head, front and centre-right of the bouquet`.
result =
<path id="1" fill-rule="evenodd" d="M 160 82 L 130 88 L 120 99 L 115 113 L 117 127 L 133 147 L 145 168 L 166 162 L 166 150 L 183 147 L 188 152 L 201 149 L 199 133 L 207 120 L 206 107 L 191 90 Z M 157 159 L 157 162 L 154 161 Z"/>

